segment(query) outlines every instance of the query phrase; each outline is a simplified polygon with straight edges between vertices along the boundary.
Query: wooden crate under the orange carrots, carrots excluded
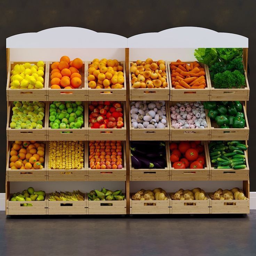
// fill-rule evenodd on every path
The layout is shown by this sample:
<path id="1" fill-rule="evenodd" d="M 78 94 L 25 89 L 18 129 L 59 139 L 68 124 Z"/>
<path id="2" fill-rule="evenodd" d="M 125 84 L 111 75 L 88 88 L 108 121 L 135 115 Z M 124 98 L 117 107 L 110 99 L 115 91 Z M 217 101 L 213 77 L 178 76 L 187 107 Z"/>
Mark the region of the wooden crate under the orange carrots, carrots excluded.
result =
<path id="1" fill-rule="evenodd" d="M 185 61 L 190 64 L 193 61 Z M 209 101 L 210 100 L 210 82 L 208 76 L 208 66 L 200 63 L 205 69 L 206 88 L 205 89 L 175 89 L 171 85 L 171 70 L 170 63 L 168 62 L 168 74 L 170 81 L 170 101 Z"/>

